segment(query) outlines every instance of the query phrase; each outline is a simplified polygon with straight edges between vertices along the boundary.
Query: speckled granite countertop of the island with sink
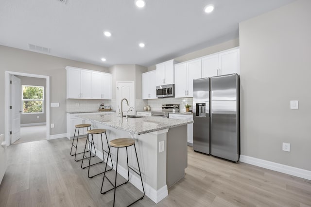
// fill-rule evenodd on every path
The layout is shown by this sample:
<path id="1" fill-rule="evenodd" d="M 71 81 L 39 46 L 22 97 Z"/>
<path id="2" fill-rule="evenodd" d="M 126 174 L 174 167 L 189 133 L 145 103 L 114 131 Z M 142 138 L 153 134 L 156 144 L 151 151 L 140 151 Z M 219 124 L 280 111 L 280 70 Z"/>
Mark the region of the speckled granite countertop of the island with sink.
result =
<path id="1" fill-rule="evenodd" d="M 137 135 L 193 123 L 191 120 L 164 119 L 154 116 L 128 118 L 127 120 L 123 117 L 121 122 L 121 117 L 116 113 L 79 115 L 78 117 Z"/>

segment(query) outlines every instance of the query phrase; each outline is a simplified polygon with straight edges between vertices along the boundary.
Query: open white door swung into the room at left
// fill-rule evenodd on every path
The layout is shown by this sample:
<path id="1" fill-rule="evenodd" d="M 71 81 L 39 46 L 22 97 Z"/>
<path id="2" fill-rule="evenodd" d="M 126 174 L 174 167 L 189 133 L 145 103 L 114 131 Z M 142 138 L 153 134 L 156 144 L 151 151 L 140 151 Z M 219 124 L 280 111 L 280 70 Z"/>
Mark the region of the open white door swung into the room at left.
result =
<path id="1" fill-rule="evenodd" d="M 11 143 L 20 138 L 21 86 L 20 79 L 11 75 Z"/>

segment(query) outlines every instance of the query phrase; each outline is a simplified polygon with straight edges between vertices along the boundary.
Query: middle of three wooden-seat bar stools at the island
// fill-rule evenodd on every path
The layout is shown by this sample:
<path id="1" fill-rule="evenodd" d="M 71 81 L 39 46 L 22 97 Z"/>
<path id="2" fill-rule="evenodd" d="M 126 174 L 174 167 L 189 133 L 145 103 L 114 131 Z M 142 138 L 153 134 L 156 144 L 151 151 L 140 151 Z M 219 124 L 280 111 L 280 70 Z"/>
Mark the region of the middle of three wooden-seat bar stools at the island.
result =
<path id="1" fill-rule="evenodd" d="M 90 130 L 88 130 L 86 133 L 87 133 L 86 145 L 87 145 L 87 142 L 88 142 L 88 144 L 90 144 L 91 147 L 90 147 L 90 149 L 89 149 L 89 157 L 87 157 L 87 156 L 85 155 L 85 153 L 88 152 L 88 151 L 86 151 L 86 145 L 85 145 L 85 147 L 84 147 L 84 153 L 83 153 L 83 158 L 82 158 L 82 162 L 81 162 L 81 168 L 82 168 L 82 169 L 85 169 L 85 168 L 88 167 L 87 176 L 88 176 L 89 178 L 92 178 L 92 177 L 94 177 L 94 176 L 96 176 L 96 175 L 103 174 L 103 173 L 106 171 L 106 168 L 105 168 L 105 171 L 104 171 L 104 172 L 99 173 L 99 174 L 96 174 L 96 175 L 89 176 L 89 169 L 90 169 L 90 167 L 93 166 L 93 165 L 96 165 L 96 164 L 99 164 L 99 163 L 104 162 L 104 152 L 105 152 L 105 153 L 108 153 L 106 150 L 104 150 L 103 133 L 105 133 L 105 135 L 106 135 L 106 141 L 107 141 L 107 146 L 108 146 L 108 147 L 109 147 L 109 144 L 108 144 L 106 129 L 103 129 L 103 128 L 90 129 Z M 94 157 L 94 156 L 96 156 L 96 149 L 95 149 L 95 144 L 94 144 L 94 139 L 93 139 L 93 135 L 94 135 L 94 134 L 101 134 L 103 161 L 100 161 L 100 162 L 91 164 L 91 158 Z M 89 140 L 89 135 L 92 135 L 92 140 L 91 140 L 91 141 Z M 92 147 L 93 147 L 93 146 L 94 146 L 94 150 L 95 150 L 95 155 L 94 155 L 94 156 L 91 156 Z M 109 158 L 109 156 L 107 157 L 107 162 L 106 162 L 106 163 L 108 163 L 108 158 Z M 86 167 L 83 167 L 83 160 L 84 160 L 84 159 L 88 159 L 88 166 L 86 166 Z M 109 169 L 109 170 L 107 170 L 107 171 L 110 171 L 110 170 L 113 169 L 113 163 L 112 163 L 111 156 L 110 156 L 110 161 L 111 161 L 112 168 Z M 107 166 L 107 165 L 106 165 L 106 166 Z"/>

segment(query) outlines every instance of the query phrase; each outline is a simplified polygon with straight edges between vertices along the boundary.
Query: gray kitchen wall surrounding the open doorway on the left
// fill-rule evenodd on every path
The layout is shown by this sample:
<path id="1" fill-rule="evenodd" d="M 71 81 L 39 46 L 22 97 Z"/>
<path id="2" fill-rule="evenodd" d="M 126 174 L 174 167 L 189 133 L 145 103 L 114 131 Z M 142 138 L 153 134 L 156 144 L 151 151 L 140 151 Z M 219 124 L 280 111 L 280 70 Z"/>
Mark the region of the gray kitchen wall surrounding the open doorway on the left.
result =
<path id="1" fill-rule="evenodd" d="M 109 72 L 108 68 L 86 64 L 51 55 L 0 46 L 0 133 L 5 132 L 5 71 L 50 76 L 50 102 L 59 107 L 50 108 L 50 134 L 66 133 L 66 66 Z"/>

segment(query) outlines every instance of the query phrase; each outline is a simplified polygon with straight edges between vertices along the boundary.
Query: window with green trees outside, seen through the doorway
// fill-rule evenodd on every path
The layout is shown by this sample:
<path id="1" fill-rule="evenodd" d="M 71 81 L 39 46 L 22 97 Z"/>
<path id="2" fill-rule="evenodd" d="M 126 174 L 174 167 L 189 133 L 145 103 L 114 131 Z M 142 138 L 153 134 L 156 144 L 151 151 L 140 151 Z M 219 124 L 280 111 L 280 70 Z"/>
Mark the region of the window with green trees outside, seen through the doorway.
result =
<path id="1" fill-rule="evenodd" d="M 22 85 L 22 114 L 44 113 L 44 87 Z"/>

